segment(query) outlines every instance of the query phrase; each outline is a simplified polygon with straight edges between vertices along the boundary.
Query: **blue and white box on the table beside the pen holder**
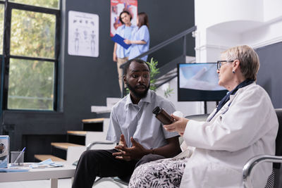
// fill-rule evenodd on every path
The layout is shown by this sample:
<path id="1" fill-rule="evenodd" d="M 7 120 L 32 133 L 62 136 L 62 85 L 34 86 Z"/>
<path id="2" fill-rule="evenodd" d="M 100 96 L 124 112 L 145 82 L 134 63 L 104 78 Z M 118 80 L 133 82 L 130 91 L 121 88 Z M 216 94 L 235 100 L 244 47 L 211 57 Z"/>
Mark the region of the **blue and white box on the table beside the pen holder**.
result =
<path id="1" fill-rule="evenodd" d="M 10 138 L 7 135 L 0 135 L 0 168 L 8 168 Z"/>

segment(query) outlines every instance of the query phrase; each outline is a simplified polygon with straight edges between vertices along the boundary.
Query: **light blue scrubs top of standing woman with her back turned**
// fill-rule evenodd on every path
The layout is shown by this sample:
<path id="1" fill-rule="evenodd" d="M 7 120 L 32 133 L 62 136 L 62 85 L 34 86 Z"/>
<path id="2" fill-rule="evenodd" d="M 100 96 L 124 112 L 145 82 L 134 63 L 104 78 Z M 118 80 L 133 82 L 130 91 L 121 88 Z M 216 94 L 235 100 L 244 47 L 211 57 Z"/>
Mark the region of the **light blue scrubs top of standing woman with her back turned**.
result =
<path id="1" fill-rule="evenodd" d="M 143 54 L 145 51 L 149 50 L 149 30 L 147 25 L 142 25 L 140 28 L 135 27 L 133 31 L 133 39 L 132 40 L 143 40 L 147 42 L 147 44 L 132 44 L 130 46 L 130 54 L 128 59 L 135 58 L 140 54 Z M 148 56 L 142 57 L 143 61 L 147 61 Z"/>

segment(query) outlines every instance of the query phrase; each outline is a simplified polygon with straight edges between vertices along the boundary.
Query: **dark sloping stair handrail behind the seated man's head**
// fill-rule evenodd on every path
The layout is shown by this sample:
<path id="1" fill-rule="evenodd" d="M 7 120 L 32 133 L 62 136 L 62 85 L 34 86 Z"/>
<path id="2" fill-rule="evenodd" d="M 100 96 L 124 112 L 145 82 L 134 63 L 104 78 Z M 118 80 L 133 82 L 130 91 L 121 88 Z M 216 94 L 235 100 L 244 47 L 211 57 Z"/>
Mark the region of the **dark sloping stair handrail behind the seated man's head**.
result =
<path id="1" fill-rule="evenodd" d="M 194 32 L 195 30 L 197 30 L 197 26 L 196 25 L 193 26 L 193 27 L 190 27 L 188 30 L 180 32 L 178 35 L 175 35 L 175 36 L 171 37 L 170 39 L 167 39 L 164 42 L 161 42 L 160 44 L 157 44 L 157 46 L 152 47 L 151 49 L 149 49 L 145 53 L 140 54 L 139 56 L 137 56 L 135 58 L 142 58 L 144 56 L 152 54 L 154 51 L 157 51 L 157 50 L 159 50 L 161 48 L 164 48 L 164 46 L 167 46 L 168 44 L 171 44 L 172 42 L 175 42 L 177 39 L 180 39 L 181 37 L 183 37 L 183 56 L 186 56 L 186 35 Z M 123 63 L 120 66 L 120 68 L 123 69 L 125 67 L 125 65 L 126 65 L 126 63 Z M 123 85 L 123 90 L 124 90 L 124 85 Z M 121 92 L 121 97 L 123 97 L 123 93 L 124 93 L 124 91 Z"/>

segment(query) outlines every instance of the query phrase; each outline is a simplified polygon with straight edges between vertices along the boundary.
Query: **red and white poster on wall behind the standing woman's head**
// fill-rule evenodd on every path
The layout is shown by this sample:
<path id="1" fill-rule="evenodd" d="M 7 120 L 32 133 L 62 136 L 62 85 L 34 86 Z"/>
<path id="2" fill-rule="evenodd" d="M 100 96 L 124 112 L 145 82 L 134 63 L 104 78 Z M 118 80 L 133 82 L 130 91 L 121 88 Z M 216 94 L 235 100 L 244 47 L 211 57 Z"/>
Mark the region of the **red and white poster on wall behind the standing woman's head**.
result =
<path id="1" fill-rule="evenodd" d="M 128 11 L 132 16 L 131 23 L 136 25 L 137 0 L 111 0 L 111 37 L 116 34 L 116 29 L 121 26 L 119 14 L 122 11 Z"/>

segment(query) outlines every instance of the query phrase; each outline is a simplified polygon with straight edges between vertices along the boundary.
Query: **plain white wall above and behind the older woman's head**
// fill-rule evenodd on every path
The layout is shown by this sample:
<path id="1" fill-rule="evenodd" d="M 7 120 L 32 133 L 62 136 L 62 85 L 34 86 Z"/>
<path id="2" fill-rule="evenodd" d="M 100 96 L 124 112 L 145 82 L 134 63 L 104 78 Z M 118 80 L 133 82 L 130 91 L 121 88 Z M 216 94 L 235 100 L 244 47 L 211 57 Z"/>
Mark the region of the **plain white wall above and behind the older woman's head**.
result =
<path id="1" fill-rule="evenodd" d="M 196 62 L 216 62 L 231 46 L 281 42 L 281 7 L 282 0 L 195 0 Z"/>

